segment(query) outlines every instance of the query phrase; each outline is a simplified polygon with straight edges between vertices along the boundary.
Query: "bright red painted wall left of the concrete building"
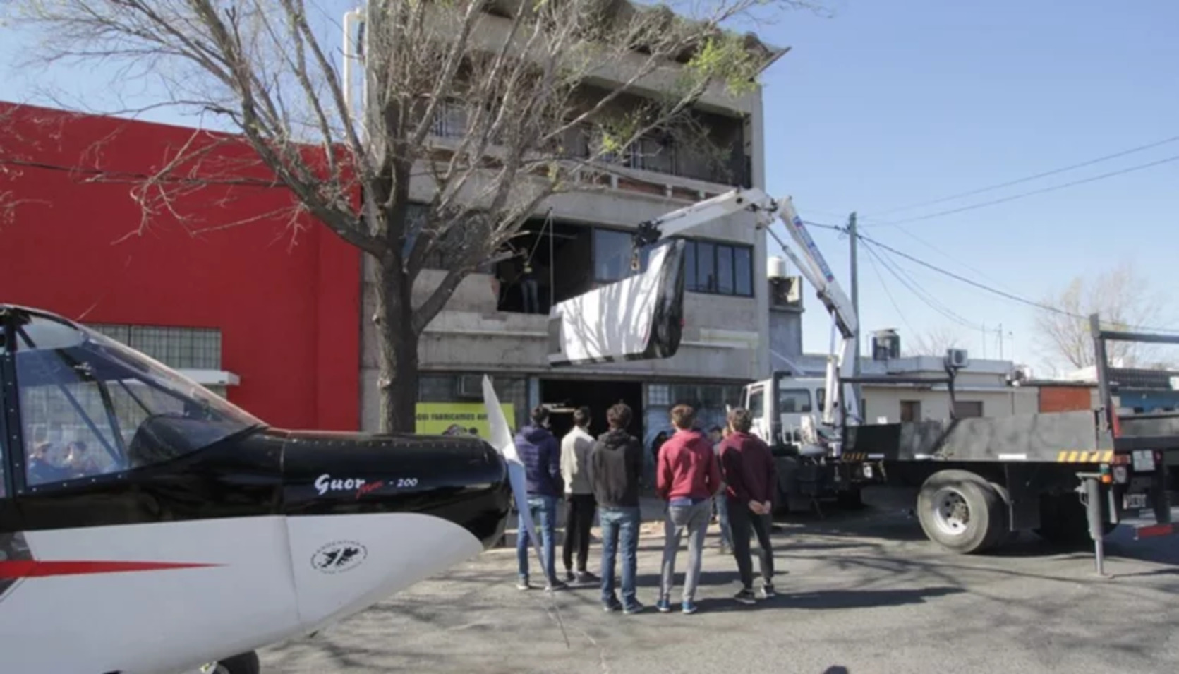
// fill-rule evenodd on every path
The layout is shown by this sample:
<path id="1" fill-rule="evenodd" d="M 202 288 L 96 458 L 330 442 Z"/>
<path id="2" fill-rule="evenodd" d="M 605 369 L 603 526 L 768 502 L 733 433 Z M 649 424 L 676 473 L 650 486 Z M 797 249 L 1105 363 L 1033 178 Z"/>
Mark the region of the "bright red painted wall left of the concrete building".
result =
<path id="1" fill-rule="evenodd" d="M 133 191 L 185 145 L 211 148 L 190 168 L 216 184 L 141 227 Z M 358 429 L 360 252 L 259 179 L 232 137 L 0 104 L 0 302 L 219 328 L 233 403 L 277 427 Z"/>

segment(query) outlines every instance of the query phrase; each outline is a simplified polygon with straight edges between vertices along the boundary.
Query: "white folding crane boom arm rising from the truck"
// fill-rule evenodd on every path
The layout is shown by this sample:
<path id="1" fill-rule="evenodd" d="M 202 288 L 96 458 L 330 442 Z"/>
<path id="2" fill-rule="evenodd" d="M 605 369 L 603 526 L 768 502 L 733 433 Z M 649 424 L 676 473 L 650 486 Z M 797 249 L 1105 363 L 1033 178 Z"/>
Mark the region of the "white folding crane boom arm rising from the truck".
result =
<path id="1" fill-rule="evenodd" d="M 653 244 L 661 238 L 683 234 L 694 227 L 739 212 L 757 214 L 757 226 L 759 229 L 765 227 L 769 231 L 770 236 L 782 246 L 786 257 L 790 258 L 790 262 L 806 277 L 806 280 L 815 288 L 816 295 L 831 315 L 831 319 L 839 331 L 841 345 L 828 362 L 826 401 L 823 410 L 824 423 L 836 423 L 837 410 L 839 412 L 839 421 L 842 422 L 844 409 L 848 416 L 858 418 L 859 401 L 852 395 L 851 386 L 849 384 L 841 385 L 839 381 L 849 377 L 855 365 L 857 356 L 855 353 L 855 344 L 859 322 L 856 318 L 851 300 L 843 291 L 839 282 L 836 280 L 831 267 L 826 264 L 826 259 L 818 250 L 818 246 L 815 245 L 815 239 L 806 231 L 806 225 L 798 217 L 793 203 L 789 197 L 778 200 L 758 189 L 736 189 L 711 199 L 697 201 L 659 218 L 640 223 L 634 234 L 635 250 L 641 245 Z M 798 249 L 797 252 L 770 229 L 775 216 L 785 225 L 786 231 Z"/>

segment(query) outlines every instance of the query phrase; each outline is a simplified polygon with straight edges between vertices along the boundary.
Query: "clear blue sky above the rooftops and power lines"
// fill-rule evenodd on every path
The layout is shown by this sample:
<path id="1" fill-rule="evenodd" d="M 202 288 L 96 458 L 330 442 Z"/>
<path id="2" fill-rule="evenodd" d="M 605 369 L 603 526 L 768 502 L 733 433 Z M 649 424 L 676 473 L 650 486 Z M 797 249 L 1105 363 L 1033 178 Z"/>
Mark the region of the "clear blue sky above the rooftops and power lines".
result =
<path id="1" fill-rule="evenodd" d="M 881 213 L 1179 136 L 1179 2 L 828 6 L 831 18 L 792 12 L 758 28 L 766 41 L 792 47 L 765 77 L 772 193 L 791 194 L 808 220 L 843 224 L 857 211 L 865 236 L 1033 299 L 1122 260 L 1170 293 L 1179 252 L 1179 161 L 902 226 L 887 223 L 1179 156 L 1179 141 L 1006 190 Z M 25 100 L 29 73 L 6 72 L 22 37 L 0 31 L 7 33 L 0 98 Z M 106 91 L 105 75 L 58 71 L 42 81 L 85 99 Z M 847 283 L 847 239 L 814 233 Z M 1009 333 L 1005 356 L 1039 363 L 1032 309 L 895 260 L 970 325 L 963 326 L 887 270 L 877 276 L 863 247 L 859 257 L 865 332 L 896 328 L 904 339 L 951 329 L 982 356 L 986 325 L 986 355 L 995 357 L 1001 324 Z M 812 293 L 806 302 L 805 349 L 824 352 L 830 322 Z M 1168 316 L 1165 326 L 1179 326 L 1175 312 Z"/>

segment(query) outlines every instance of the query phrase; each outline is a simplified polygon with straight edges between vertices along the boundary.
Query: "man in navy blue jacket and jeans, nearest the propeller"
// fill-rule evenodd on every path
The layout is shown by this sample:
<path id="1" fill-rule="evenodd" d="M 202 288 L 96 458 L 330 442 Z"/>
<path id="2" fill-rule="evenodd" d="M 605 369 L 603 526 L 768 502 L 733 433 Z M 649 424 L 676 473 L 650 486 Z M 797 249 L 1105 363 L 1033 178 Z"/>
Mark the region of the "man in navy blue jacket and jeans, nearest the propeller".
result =
<path id="1" fill-rule="evenodd" d="M 561 482 L 561 445 L 548 430 L 548 409 L 532 410 L 532 423 L 520 429 L 515 436 L 516 452 L 523 463 L 527 477 L 528 509 L 532 518 L 540 524 L 540 544 L 545 556 L 545 589 L 565 587 L 556 577 L 555 527 L 556 501 L 564 493 Z M 525 529 L 523 518 L 516 527 L 516 561 L 520 564 L 520 582 L 516 588 L 531 589 L 528 584 L 528 546 L 531 531 Z"/>

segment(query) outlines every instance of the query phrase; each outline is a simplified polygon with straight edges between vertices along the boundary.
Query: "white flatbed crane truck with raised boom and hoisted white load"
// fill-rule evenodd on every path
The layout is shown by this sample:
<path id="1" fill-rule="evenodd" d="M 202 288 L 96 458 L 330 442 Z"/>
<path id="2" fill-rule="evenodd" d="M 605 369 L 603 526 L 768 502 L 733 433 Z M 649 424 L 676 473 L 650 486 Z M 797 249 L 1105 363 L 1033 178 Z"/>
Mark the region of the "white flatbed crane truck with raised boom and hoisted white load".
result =
<path id="1" fill-rule="evenodd" d="M 1135 537 L 1179 530 L 1164 461 L 1164 454 L 1179 452 L 1179 414 L 1120 411 L 1106 358 L 1109 341 L 1179 344 L 1179 336 L 1104 330 L 1092 316 L 1101 395 L 1094 410 L 974 418 L 951 412 L 948 419 L 869 424 L 861 418 L 854 384 L 947 384 L 953 399 L 966 353 L 947 353 L 944 378 L 854 376 L 858 323 L 851 302 L 792 200 L 773 199 L 758 189 L 736 189 L 639 223 L 634 275 L 554 305 L 549 363 L 673 356 L 684 324 L 683 236 L 743 212 L 755 214 L 755 226 L 765 230 L 810 282 L 838 335 L 828 357 L 821 418 L 785 409 L 790 391 L 799 385 L 786 374 L 775 372 L 743 389 L 755 432 L 789 468 L 779 471 L 779 496 L 815 496 L 825 489 L 855 502 L 865 488 L 909 489 L 927 537 L 946 549 L 980 553 L 1025 529 L 1060 542 L 1087 535 L 1095 543 L 1099 570 L 1102 538 L 1113 527 L 1133 527 Z M 773 231 L 776 220 L 797 251 Z"/>

